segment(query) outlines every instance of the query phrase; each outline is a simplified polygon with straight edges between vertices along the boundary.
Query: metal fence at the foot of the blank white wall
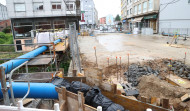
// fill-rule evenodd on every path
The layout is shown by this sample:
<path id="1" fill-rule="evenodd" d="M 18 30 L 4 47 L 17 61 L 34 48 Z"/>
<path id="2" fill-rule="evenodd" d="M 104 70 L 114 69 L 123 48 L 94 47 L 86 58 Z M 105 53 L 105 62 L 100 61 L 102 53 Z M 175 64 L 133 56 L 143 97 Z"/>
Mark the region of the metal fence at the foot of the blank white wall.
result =
<path id="1" fill-rule="evenodd" d="M 180 36 L 190 37 L 190 28 L 162 28 L 160 34 L 163 35 L 179 34 Z"/>

